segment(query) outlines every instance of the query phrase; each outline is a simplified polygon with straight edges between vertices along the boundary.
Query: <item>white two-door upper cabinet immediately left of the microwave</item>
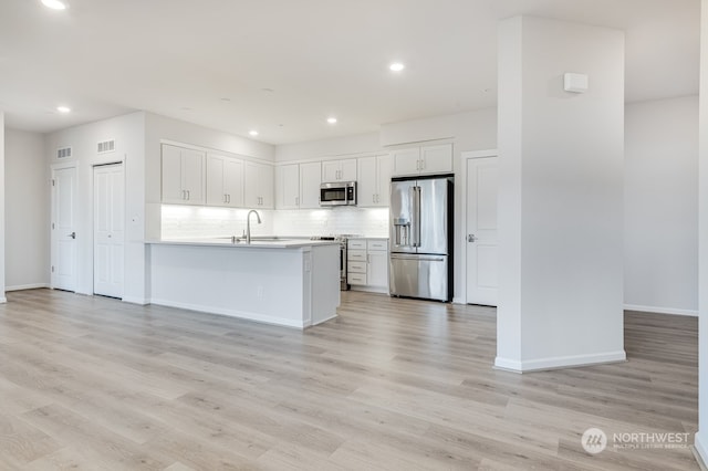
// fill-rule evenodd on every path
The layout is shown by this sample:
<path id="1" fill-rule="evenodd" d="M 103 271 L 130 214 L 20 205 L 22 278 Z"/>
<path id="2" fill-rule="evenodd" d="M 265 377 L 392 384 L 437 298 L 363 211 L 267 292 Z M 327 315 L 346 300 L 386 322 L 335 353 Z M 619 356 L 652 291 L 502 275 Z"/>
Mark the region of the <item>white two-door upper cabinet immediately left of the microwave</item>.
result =
<path id="1" fill-rule="evenodd" d="M 320 207 L 321 163 L 282 165 L 275 169 L 275 208 Z"/>

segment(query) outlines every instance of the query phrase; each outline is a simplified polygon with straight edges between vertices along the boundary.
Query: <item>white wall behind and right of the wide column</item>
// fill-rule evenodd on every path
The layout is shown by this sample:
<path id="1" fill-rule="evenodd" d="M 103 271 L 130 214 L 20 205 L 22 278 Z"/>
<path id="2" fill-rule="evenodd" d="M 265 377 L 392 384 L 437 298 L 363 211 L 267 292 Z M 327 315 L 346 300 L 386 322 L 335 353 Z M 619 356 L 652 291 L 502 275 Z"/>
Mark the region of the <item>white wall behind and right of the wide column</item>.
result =
<path id="1" fill-rule="evenodd" d="M 698 96 L 625 109 L 625 308 L 697 315 Z"/>

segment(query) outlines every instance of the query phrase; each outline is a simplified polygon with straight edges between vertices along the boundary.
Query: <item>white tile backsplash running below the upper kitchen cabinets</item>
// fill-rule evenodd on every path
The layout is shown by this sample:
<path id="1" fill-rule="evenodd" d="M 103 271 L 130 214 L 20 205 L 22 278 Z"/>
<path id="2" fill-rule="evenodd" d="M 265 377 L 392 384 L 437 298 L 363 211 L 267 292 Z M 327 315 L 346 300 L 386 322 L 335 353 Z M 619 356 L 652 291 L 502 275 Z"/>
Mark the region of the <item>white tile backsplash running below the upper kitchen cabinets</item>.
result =
<path id="1" fill-rule="evenodd" d="M 163 239 L 198 239 L 240 236 L 248 209 L 163 205 Z M 253 236 L 360 234 L 388 237 L 387 208 L 332 208 L 313 210 L 259 210 L 261 224 L 251 216 Z"/>

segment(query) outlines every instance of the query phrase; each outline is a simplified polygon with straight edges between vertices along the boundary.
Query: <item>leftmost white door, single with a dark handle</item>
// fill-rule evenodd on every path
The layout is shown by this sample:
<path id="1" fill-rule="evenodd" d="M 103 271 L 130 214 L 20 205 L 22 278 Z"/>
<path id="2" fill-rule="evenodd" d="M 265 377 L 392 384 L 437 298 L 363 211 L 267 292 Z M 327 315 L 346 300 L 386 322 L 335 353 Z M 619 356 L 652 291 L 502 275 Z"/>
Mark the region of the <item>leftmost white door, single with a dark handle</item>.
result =
<path id="1" fill-rule="evenodd" d="M 52 170 L 52 287 L 76 291 L 76 168 Z"/>

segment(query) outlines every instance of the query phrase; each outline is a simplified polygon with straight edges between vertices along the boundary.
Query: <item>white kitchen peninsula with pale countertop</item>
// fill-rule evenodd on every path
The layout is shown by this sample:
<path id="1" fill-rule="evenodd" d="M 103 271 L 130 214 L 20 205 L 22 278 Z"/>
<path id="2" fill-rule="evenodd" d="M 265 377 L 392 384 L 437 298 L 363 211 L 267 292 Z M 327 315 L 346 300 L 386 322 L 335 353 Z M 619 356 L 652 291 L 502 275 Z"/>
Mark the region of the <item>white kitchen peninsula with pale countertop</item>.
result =
<path id="1" fill-rule="evenodd" d="M 230 238 L 147 242 L 150 303 L 305 328 L 336 316 L 340 247 Z"/>

